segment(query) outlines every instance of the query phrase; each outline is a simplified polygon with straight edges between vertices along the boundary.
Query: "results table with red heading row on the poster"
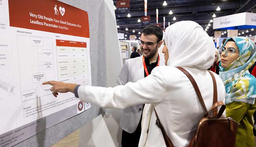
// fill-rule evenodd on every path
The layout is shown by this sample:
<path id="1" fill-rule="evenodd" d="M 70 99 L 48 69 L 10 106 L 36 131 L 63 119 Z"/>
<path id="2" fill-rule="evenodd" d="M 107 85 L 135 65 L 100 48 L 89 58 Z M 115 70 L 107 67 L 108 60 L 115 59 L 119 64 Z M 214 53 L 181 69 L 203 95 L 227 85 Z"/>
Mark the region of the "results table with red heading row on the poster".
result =
<path id="1" fill-rule="evenodd" d="M 58 80 L 84 85 L 88 83 L 86 42 L 56 40 Z"/>

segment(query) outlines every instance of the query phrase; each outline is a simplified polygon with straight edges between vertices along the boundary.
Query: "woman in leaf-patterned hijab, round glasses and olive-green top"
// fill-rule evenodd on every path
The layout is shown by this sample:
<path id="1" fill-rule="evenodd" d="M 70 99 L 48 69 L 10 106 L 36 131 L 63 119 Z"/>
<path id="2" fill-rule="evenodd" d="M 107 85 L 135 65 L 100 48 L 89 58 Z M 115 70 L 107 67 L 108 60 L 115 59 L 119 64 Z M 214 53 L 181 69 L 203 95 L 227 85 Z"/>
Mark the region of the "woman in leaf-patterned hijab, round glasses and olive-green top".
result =
<path id="1" fill-rule="evenodd" d="M 219 76 L 226 89 L 226 115 L 240 123 L 235 147 L 254 147 L 252 115 L 256 110 L 256 78 L 248 69 L 256 61 L 255 44 L 246 37 L 231 37 L 222 48 Z"/>

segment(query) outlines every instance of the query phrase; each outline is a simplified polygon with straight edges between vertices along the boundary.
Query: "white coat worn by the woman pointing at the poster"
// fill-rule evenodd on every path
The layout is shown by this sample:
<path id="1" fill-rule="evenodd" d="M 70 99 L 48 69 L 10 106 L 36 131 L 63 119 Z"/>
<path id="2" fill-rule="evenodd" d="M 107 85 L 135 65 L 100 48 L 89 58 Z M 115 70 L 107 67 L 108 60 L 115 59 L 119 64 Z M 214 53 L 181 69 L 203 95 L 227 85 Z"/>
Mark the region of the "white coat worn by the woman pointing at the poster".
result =
<path id="1" fill-rule="evenodd" d="M 196 80 L 210 109 L 213 101 L 213 81 L 210 73 L 196 68 L 185 68 Z M 223 81 L 214 73 L 217 81 L 218 101 L 225 97 Z M 151 75 L 138 82 L 128 82 L 114 88 L 80 86 L 78 95 L 83 102 L 103 108 L 126 108 L 145 105 L 139 147 L 165 147 L 161 130 L 155 125 L 155 107 L 159 119 L 175 147 L 186 147 L 204 114 L 194 87 L 179 69 L 159 66 Z M 148 131 L 148 133 L 147 133 Z"/>

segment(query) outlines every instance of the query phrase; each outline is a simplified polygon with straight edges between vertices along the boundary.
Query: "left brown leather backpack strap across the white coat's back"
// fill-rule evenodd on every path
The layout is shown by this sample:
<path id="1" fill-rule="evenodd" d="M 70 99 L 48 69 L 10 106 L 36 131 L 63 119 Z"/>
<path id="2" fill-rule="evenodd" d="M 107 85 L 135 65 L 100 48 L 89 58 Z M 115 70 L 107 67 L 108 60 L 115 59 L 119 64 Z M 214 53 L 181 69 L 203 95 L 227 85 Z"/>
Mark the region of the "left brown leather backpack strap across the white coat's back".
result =
<path id="1" fill-rule="evenodd" d="M 191 76 L 191 74 L 190 74 L 189 72 L 187 72 L 184 68 L 182 68 L 182 67 L 177 67 L 177 69 L 181 70 L 181 71 L 189 78 L 189 80 L 191 81 L 193 87 L 194 87 L 195 90 L 196 90 L 197 96 L 198 96 L 198 98 L 199 98 L 199 100 L 200 100 L 200 102 L 201 102 L 201 104 L 202 104 L 202 106 L 203 106 L 203 109 L 204 109 L 205 113 L 207 113 L 207 112 L 208 112 L 208 111 L 207 111 L 207 108 L 205 107 L 205 104 L 204 104 L 204 102 L 203 102 L 202 95 L 201 95 L 201 93 L 200 93 L 200 90 L 199 90 L 199 88 L 198 88 L 198 86 L 197 86 L 197 83 L 196 83 L 195 79 L 194 79 L 194 78 Z"/>

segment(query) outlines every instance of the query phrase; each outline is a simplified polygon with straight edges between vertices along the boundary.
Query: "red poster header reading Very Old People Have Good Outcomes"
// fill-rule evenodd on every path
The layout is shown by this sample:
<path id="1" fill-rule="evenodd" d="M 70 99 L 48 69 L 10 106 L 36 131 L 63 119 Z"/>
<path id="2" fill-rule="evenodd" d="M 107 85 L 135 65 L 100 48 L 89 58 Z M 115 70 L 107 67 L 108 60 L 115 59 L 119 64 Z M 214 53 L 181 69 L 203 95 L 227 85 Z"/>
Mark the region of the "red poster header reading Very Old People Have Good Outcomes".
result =
<path id="1" fill-rule="evenodd" d="M 89 38 L 88 13 L 57 0 L 9 0 L 10 26 Z"/>

